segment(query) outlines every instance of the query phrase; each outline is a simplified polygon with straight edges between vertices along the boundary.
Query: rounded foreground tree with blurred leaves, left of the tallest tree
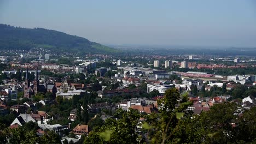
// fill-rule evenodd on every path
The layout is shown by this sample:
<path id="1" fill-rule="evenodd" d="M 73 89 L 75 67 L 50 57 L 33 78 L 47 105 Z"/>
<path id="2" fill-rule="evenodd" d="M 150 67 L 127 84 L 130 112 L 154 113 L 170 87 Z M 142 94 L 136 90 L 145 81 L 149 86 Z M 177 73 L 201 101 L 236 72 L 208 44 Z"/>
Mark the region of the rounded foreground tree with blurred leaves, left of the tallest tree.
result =
<path id="1" fill-rule="evenodd" d="M 141 138 L 136 134 L 139 113 L 130 109 L 118 109 L 115 113 L 118 119 L 108 118 L 101 128 L 92 130 L 84 143 L 139 143 Z"/>

